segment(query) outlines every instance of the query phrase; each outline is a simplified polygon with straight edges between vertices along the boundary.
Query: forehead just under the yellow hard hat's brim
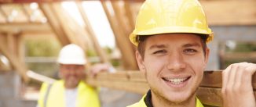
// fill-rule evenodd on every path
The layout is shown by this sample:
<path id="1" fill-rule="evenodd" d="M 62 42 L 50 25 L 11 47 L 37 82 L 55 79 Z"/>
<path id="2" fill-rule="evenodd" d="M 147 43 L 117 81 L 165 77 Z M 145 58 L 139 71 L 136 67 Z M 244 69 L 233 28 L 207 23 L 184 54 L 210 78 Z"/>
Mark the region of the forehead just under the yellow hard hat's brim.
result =
<path id="1" fill-rule="evenodd" d="M 196 34 L 157 34 L 148 37 L 146 40 L 146 47 L 152 45 L 186 45 L 199 44 L 201 45 L 201 38 Z"/>

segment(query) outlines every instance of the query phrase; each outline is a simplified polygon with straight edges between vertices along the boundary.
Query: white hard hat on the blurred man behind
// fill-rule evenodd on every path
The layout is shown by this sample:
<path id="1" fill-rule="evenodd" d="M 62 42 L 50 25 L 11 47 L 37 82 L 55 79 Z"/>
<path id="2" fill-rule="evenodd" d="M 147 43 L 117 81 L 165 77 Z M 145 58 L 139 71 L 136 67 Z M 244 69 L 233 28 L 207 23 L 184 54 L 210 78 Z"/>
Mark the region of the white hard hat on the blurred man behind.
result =
<path id="1" fill-rule="evenodd" d="M 86 64 L 86 56 L 78 45 L 65 45 L 60 50 L 57 62 L 60 64 L 84 65 Z"/>

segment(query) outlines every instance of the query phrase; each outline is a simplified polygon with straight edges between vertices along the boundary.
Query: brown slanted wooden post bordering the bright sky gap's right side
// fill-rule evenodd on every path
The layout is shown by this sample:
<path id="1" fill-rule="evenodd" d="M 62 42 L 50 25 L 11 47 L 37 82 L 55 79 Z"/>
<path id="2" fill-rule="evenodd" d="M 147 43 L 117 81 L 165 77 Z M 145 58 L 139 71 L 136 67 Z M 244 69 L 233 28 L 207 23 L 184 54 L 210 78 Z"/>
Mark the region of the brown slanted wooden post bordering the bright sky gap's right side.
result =
<path id="1" fill-rule="evenodd" d="M 108 21 L 115 34 L 116 43 L 119 46 L 120 51 L 122 52 L 124 68 L 126 70 L 137 70 L 137 62 L 135 60 L 134 51 L 133 48 L 131 47 L 129 37 L 122 30 L 120 30 L 119 22 L 116 22 L 116 16 L 112 16 L 110 14 L 106 3 L 106 1 L 101 0 L 104 12 L 108 17 Z"/>

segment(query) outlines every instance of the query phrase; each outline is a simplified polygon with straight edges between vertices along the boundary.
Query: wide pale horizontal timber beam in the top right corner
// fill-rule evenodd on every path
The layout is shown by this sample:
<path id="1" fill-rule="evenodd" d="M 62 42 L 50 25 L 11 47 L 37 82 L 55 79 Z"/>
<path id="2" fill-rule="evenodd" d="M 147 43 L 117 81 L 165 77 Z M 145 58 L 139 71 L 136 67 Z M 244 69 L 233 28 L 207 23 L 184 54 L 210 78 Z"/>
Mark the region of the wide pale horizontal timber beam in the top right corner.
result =
<path id="1" fill-rule="evenodd" d="M 256 25 L 254 0 L 215 0 L 201 3 L 210 25 Z"/>

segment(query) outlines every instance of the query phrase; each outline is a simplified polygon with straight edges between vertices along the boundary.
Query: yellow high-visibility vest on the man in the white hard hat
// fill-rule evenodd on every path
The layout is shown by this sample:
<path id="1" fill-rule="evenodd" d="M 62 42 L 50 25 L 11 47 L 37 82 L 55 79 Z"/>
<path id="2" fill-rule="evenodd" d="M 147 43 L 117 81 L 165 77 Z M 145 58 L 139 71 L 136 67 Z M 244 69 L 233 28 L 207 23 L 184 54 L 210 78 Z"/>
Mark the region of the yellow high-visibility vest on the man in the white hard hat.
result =
<path id="1" fill-rule="evenodd" d="M 49 86 L 50 85 L 46 83 L 42 84 L 38 98 L 39 107 L 65 107 L 64 80 L 57 80 L 51 87 Z M 76 107 L 100 107 L 97 90 L 81 81 L 78 86 L 78 95 L 75 105 Z"/>

